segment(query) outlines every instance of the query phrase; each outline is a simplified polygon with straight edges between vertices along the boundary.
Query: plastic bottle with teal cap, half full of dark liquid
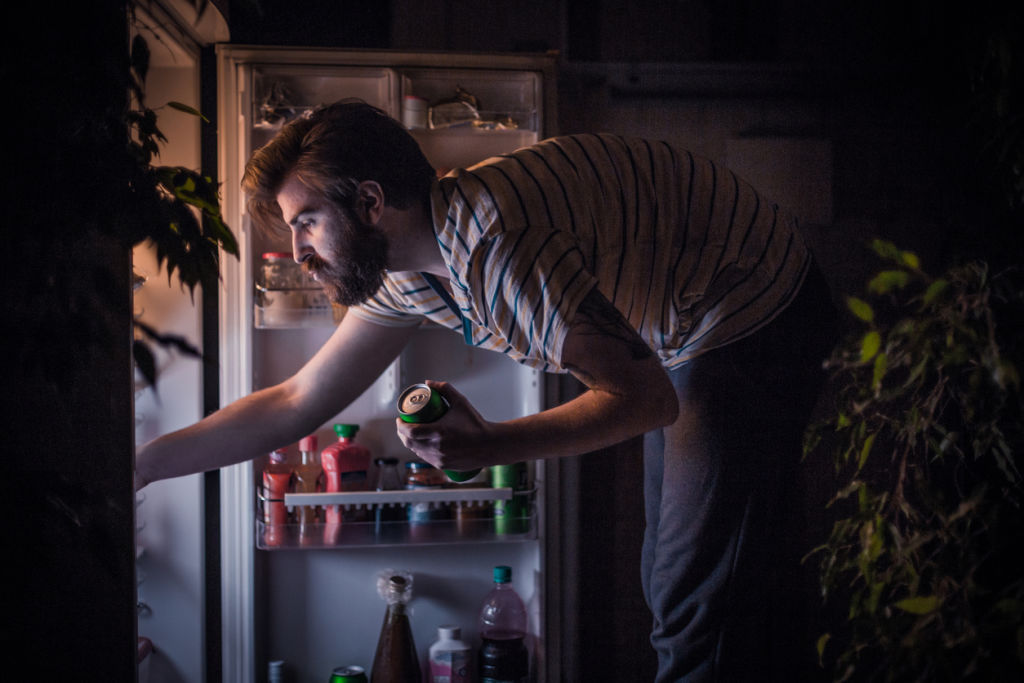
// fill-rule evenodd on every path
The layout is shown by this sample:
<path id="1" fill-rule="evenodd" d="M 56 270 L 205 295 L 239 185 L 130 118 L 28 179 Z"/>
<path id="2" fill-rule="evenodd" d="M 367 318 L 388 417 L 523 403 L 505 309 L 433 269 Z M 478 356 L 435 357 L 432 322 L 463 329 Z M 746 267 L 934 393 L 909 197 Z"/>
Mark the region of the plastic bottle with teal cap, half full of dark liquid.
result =
<path id="1" fill-rule="evenodd" d="M 526 683 L 526 606 L 512 588 L 512 568 L 495 567 L 495 587 L 480 608 L 480 683 Z"/>

